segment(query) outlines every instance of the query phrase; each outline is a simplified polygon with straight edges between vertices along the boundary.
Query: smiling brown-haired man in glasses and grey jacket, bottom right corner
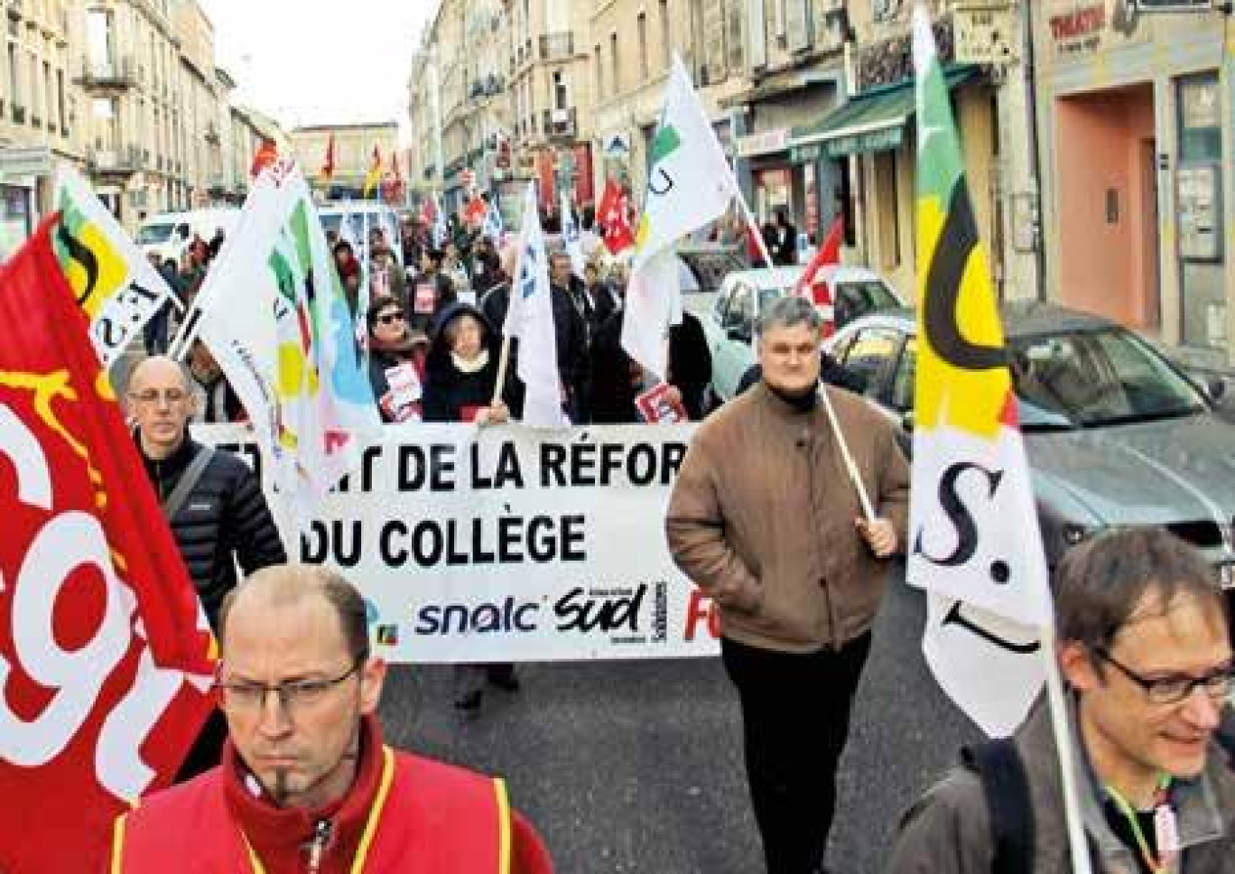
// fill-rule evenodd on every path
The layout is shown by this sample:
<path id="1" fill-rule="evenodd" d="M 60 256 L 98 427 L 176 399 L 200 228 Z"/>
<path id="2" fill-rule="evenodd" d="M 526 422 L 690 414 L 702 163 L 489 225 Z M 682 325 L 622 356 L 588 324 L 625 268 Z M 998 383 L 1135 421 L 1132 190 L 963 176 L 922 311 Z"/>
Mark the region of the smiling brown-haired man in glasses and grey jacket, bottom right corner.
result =
<path id="1" fill-rule="evenodd" d="M 1093 870 L 1235 869 L 1235 774 L 1215 743 L 1231 643 L 1212 569 L 1163 530 L 1110 532 L 1065 556 L 1055 606 Z M 1072 870 L 1045 701 L 1003 747 L 1011 784 L 955 769 L 905 815 L 887 872 Z"/>

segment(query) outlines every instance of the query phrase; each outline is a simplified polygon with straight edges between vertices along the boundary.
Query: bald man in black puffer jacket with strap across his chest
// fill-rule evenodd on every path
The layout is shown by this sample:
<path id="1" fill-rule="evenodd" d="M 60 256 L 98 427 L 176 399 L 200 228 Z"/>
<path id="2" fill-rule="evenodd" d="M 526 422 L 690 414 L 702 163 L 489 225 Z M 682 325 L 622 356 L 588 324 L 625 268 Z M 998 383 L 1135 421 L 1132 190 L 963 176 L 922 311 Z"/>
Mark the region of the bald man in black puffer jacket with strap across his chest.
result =
<path id="1" fill-rule="evenodd" d="M 246 574 L 288 560 L 253 470 L 236 456 L 189 437 L 196 409 L 190 377 L 172 358 L 152 356 L 133 368 L 127 407 L 146 475 L 172 527 L 211 628 L 219 606 Z M 215 714 L 178 779 L 219 762 L 226 727 Z"/>

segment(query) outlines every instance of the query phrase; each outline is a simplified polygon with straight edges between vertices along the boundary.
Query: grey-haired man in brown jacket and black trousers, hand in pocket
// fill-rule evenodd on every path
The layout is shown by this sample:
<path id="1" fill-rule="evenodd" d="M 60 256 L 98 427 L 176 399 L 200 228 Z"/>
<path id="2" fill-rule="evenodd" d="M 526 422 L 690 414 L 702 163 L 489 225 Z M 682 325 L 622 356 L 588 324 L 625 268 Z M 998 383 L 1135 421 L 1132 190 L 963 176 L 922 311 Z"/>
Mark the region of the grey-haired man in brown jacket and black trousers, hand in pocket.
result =
<path id="1" fill-rule="evenodd" d="M 818 404 L 820 326 L 800 298 L 761 314 L 762 379 L 695 432 L 666 520 L 678 567 L 720 606 L 769 874 L 824 870 L 850 707 L 905 542 L 909 472 L 892 426 L 826 389 L 876 509 L 867 521 Z"/>

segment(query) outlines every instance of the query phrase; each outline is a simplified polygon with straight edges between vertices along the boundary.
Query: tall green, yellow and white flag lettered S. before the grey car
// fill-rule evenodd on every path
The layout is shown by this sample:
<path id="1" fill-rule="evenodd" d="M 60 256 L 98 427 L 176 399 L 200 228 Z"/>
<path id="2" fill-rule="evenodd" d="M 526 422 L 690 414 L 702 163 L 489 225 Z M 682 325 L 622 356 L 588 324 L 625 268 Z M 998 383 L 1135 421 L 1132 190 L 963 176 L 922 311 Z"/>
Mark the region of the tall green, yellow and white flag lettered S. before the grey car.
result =
<path id="1" fill-rule="evenodd" d="M 986 247 L 930 19 L 914 15 L 918 372 L 908 579 L 926 589 L 923 651 L 989 735 L 1045 678 L 1051 596 Z"/>

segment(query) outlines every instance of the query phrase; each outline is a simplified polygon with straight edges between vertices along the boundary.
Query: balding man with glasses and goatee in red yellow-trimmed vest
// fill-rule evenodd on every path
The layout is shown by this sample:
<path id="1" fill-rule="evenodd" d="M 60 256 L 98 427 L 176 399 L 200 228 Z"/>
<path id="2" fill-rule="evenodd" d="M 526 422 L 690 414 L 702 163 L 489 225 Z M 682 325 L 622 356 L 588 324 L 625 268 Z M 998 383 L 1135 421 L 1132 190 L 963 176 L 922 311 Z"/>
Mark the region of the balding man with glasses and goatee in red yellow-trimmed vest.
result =
<path id="1" fill-rule="evenodd" d="M 385 664 L 342 576 L 261 570 L 219 638 L 224 760 L 120 817 L 112 872 L 551 874 L 503 780 L 382 743 Z"/>

